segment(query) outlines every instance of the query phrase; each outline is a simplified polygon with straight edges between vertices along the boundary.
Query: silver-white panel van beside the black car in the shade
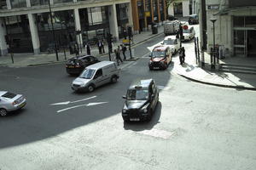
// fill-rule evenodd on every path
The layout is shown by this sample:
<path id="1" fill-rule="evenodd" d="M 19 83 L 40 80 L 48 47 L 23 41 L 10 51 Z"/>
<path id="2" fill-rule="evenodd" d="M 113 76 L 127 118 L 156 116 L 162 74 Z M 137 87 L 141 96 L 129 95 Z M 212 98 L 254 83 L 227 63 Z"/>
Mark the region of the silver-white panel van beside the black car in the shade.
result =
<path id="1" fill-rule="evenodd" d="M 92 92 L 95 88 L 108 82 L 117 82 L 120 69 L 113 61 L 102 61 L 87 66 L 77 77 L 71 88 L 75 91 L 85 90 Z"/>

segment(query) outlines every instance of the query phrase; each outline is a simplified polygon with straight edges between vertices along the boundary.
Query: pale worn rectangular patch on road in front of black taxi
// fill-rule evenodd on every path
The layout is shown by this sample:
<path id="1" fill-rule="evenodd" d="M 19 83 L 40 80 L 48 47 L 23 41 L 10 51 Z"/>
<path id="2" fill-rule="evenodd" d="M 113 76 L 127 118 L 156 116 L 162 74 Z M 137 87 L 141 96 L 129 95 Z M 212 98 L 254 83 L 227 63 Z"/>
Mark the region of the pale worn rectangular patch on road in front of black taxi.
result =
<path id="1" fill-rule="evenodd" d="M 159 130 L 159 129 L 151 129 L 151 130 L 143 130 L 141 132 L 137 132 L 141 134 L 145 134 L 148 136 L 153 136 L 155 138 L 161 138 L 161 139 L 169 139 L 173 133 L 165 131 L 165 130 Z"/>

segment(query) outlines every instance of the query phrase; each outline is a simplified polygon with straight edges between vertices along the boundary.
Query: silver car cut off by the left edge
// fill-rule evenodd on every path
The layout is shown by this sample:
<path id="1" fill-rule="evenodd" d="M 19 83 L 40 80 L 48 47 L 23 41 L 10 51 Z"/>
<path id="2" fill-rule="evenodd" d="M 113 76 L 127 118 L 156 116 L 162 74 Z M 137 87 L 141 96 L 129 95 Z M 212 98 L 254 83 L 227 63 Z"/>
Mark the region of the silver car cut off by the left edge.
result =
<path id="1" fill-rule="evenodd" d="M 21 94 L 0 91 L 0 116 L 6 116 L 9 111 L 16 111 L 26 105 L 26 99 Z"/>

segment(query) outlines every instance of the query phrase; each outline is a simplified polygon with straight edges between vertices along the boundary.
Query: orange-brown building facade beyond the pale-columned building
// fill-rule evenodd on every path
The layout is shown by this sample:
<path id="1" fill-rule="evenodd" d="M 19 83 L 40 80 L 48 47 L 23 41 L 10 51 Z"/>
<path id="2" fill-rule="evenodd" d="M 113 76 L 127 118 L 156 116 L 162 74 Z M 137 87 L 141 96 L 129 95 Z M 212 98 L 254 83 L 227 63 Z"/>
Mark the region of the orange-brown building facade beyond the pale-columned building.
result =
<path id="1" fill-rule="evenodd" d="M 131 0 L 133 29 L 148 30 L 153 22 L 166 20 L 166 0 Z"/>

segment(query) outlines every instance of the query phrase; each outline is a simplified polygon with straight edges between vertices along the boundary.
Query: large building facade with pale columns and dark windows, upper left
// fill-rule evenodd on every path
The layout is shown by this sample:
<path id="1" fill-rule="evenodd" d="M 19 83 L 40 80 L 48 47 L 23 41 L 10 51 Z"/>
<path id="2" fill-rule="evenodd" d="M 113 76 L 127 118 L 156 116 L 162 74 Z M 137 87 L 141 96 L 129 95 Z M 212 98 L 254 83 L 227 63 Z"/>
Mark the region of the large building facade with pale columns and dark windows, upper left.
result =
<path id="1" fill-rule="evenodd" d="M 0 25 L 1 55 L 6 55 L 39 54 L 55 42 L 60 47 L 82 46 L 106 38 L 108 32 L 118 40 L 133 21 L 130 0 L 6 0 L 0 7 Z"/>

